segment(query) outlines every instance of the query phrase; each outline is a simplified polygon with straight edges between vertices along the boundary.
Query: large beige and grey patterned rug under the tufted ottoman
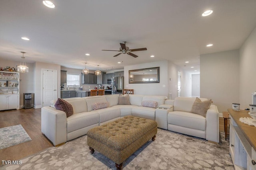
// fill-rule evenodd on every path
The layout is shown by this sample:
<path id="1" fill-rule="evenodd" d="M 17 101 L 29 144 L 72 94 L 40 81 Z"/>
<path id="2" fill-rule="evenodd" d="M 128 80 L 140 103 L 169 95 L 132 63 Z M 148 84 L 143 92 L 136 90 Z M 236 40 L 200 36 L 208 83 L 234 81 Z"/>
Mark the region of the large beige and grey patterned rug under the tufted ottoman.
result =
<path id="1" fill-rule="evenodd" d="M 171 131 L 158 129 L 156 140 L 148 141 L 125 160 L 123 170 L 234 170 L 228 141 L 221 133 L 221 144 L 209 143 Z M 115 170 L 115 163 L 97 152 L 90 153 L 87 135 L 50 147 L 21 160 L 4 165 L 3 170 Z"/>

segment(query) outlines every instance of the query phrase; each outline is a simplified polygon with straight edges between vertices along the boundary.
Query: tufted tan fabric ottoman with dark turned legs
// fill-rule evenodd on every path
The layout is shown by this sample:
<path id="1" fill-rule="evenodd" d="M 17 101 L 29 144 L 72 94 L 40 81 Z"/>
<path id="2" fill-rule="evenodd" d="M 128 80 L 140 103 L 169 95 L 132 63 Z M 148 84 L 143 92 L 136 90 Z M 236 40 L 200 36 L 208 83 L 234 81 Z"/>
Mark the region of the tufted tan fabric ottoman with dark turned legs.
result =
<path id="1" fill-rule="evenodd" d="M 144 145 L 149 139 L 155 140 L 157 123 L 151 119 L 126 116 L 87 132 L 90 152 L 94 149 L 116 163 L 120 170 L 124 160 Z"/>

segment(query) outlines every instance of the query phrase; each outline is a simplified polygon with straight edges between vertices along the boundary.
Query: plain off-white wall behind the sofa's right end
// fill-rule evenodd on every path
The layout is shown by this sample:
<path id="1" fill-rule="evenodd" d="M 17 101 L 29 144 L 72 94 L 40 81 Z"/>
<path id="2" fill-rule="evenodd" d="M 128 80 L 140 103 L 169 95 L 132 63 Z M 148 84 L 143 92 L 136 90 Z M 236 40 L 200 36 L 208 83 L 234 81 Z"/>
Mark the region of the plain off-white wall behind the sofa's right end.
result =
<path id="1" fill-rule="evenodd" d="M 212 99 L 219 113 L 239 103 L 239 51 L 200 55 L 200 97 Z"/>

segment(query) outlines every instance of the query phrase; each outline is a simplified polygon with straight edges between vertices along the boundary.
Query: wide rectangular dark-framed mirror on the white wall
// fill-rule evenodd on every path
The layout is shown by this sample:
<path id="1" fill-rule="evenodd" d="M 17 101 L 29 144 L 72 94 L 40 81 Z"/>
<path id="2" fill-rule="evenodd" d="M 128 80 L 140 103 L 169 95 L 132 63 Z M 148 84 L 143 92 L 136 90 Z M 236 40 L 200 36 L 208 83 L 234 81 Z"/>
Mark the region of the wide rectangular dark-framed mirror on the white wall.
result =
<path id="1" fill-rule="evenodd" d="M 129 70 L 129 83 L 159 83 L 160 67 Z"/>

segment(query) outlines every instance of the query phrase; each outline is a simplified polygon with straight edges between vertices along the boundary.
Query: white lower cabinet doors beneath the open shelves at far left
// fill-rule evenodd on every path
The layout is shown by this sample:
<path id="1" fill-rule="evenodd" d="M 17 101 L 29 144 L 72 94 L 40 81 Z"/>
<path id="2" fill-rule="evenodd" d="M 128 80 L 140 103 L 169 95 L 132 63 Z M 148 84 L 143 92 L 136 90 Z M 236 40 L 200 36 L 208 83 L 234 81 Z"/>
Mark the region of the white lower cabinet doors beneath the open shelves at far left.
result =
<path id="1" fill-rule="evenodd" d="M 0 110 L 20 109 L 20 94 L 0 95 Z"/>

